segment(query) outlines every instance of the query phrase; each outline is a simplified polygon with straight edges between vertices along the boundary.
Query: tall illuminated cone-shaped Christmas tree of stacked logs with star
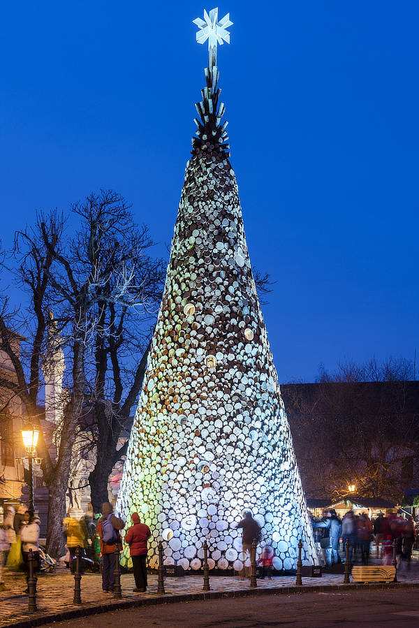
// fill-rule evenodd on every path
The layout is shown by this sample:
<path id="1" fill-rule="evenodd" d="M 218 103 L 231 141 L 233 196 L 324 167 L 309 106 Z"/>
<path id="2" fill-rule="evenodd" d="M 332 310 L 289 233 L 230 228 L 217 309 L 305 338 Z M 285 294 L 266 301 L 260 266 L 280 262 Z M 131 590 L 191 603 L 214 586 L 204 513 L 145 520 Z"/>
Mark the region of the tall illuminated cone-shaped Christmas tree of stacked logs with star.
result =
<path id="1" fill-rule="evenodd" d="M 316 550 L 221 122 L 216 43 L 231 22 L 216 9 L 196 22 L 207 85 L 117 511 L 152 530 L 150 567 L 163 539 L 166 564 L 200 569 L 207 539 L 211 569 L 242 569 L 235 524 L 250 510 L 274 566 L 295 569 L 300 538 L 304 564 Z"/>

